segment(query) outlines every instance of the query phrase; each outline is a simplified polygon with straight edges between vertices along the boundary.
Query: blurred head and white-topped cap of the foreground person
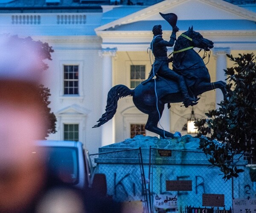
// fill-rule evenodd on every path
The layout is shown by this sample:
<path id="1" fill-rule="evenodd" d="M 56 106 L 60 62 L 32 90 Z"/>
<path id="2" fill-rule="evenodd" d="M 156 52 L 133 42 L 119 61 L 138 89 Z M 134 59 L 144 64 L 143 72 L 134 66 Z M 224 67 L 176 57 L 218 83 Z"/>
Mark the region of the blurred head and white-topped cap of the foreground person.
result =
<path id="1" fill-rule="evenodd" d="M 0 212 L 25 209 L 44 183 L 34 141 L 44 135 L 38 50 L 0 36 Z"/>

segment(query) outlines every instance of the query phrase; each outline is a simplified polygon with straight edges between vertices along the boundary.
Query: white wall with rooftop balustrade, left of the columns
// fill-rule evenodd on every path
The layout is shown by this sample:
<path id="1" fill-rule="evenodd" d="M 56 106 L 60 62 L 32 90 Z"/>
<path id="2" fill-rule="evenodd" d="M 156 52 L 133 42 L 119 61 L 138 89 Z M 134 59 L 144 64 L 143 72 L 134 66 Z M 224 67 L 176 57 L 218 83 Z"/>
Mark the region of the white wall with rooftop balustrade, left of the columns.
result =
<path id="1" fill-rule="evenodd" d="M 90 153 L 101 147 L 101 129 L 92 129 L 102 115 L 102 40 L 94 31 L 101 17 L 95 12 L 0 14 L 0 34 L 31 36 L 54 49 L 42 83 L 50 89 L 57 132 L 47 139 L 63 140 L 64 124 L 79 124 L 79 141 Z M 64 95 L 64 65 L 79 65 L 78 96 Z"/>

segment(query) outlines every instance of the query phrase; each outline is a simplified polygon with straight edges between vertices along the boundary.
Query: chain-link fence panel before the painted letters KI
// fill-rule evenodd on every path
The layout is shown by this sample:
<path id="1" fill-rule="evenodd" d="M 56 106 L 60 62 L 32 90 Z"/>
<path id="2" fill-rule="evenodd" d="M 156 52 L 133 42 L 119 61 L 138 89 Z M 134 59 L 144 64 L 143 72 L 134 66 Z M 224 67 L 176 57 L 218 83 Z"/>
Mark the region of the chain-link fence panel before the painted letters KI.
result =
<path id="1" fill-rule="evenodd" d="M 95 173 L 107 179 L 107 193 L 113 200 L 142 201 L 148 212 L 148 197 L 141 149 L 125 149 L 90 155 Z"/>

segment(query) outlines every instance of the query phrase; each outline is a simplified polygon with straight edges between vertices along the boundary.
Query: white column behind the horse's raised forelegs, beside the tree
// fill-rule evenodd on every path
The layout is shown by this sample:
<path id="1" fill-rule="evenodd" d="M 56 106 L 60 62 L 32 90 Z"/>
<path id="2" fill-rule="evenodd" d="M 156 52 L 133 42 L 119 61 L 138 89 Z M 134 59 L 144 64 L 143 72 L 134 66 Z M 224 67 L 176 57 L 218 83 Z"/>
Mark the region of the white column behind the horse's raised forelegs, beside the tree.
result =
<path id="1" fill-rule="evenodd" d="M 227 55 L 230 54 L 229 47 L 217 47 L 213 49 L 213 54 L 216 58 L 216 81 L 225 81 L 224 69 L 227 69 Z M 216 89 L 215 108 L 218 109 L 218 105 L 223 100 L 223 94 L 220 89 Z"/>

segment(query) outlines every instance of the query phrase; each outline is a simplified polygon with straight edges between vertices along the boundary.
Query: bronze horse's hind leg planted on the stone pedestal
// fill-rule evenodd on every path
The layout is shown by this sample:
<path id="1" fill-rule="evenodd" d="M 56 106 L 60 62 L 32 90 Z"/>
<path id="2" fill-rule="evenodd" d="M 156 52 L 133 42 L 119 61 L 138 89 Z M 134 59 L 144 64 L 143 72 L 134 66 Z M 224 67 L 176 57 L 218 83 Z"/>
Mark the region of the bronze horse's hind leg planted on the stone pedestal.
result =
<path id="1" fill-rule="evenodd" d="M 163 109 L 164 105 L 159 109 L 160 117 L 157 109 L 155 109 L 154 111 L 152 110 L 152 112 L 148 114 L 148 121 L 145 125 L 145 129 L 160 135 L 162 138 L 174 138 L 174 135 L 171 132 L 167 132 L 157 127 L 159 119 L 162 116 Z"/>

